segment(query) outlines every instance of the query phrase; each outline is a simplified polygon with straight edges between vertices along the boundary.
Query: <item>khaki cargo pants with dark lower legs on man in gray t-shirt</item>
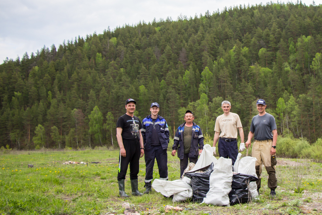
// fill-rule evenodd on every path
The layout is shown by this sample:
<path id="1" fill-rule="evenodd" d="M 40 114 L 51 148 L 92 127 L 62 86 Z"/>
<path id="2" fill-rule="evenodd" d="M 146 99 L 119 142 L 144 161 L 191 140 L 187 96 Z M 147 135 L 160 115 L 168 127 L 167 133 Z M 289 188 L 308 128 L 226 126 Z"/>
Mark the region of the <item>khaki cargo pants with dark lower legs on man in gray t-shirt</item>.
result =
<path id="1" fill-rule="evenodd" d="M 272 140 L 255 140 L 255 142 L 253 143 L 253 147 L 251 148 L 251 156 L 257 159 L 255 163 L 255 169 L 258 178 L 258 180 L 256 181 L 257 190 L 260 189 L 260 174 L 262 172 L 262 164 L 264 164 L 265 169 L 268 173 L 268 187 L 271 190 L 275 190 L 275 188 L 277 187 L 277 179 L 275 175 L 276 156 L 270 155 L 270 149 L 272 148 L 272 145 Z"/>

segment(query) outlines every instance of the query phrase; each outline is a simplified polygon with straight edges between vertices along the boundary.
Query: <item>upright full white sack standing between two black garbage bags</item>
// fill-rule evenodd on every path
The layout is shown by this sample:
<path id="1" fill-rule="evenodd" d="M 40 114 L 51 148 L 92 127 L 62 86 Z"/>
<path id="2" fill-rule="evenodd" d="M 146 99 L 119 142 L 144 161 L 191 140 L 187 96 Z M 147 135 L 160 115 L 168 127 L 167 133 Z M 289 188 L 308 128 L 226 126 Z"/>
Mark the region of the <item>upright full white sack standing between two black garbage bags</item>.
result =
<path id="1" fill-rule="evenodd" d="M 232 190 L 232 159 L 220 157 L 214 163 L 209 184 L 209 191 L 202 203 L 229 205 L 228 193 Z"/>

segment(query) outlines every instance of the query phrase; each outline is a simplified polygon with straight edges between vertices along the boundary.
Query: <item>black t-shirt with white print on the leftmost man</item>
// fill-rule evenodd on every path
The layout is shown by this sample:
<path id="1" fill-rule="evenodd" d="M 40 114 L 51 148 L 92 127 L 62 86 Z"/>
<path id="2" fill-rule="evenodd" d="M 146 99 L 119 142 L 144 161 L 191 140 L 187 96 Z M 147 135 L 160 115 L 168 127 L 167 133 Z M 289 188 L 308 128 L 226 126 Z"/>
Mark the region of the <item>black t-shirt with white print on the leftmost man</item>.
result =
<path id="1" fill-rule="evenodd" d="M 136 116 L 124 114 L 118 118 L 116 127 L 122 128 L 122 139 L 140 140 L 139 130 L 142 128 L 141 121 Z"/>

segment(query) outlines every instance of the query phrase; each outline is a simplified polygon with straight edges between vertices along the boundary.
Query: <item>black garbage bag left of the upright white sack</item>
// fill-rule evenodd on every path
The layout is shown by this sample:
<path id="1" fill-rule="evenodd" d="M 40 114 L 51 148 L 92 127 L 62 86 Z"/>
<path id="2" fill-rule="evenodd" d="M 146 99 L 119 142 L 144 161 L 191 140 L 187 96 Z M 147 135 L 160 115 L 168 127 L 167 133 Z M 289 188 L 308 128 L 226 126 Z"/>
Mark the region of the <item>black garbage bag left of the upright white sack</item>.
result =
<path id="1" fill-rule="evenodd" d="M 198 172 L 203 171 L 203 172 Z M 192 201 L 202 202 L 209 191 L 209 177 L 213 172 L 213 163 L 210 165 L 193 171 L 185 173 L 185 176 L 191 179 L 192 183 Z"/>

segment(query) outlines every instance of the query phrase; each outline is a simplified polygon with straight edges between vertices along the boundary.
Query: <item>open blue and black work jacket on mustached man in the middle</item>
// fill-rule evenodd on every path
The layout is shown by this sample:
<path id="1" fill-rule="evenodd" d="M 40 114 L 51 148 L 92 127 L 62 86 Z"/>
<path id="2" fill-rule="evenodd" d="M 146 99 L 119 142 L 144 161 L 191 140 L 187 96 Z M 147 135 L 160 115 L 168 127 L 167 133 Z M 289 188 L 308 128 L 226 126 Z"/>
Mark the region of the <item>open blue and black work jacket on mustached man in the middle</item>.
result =
<path id="1" fill-rule="evenodd" d="M 184 158 L 185 149 L 183 143 L 183 131 L 185 129 L 185 123 L 181 124 L 175 132 L 175 138 L 173 140 L 172 150 L 178 151 L 178 158 L 181 160 Z M 192 137 L 191 147 L 189 151 L 190 158 L 196 158 L 199 155 L 198 149 L 204 149 L 204 135 L 202 134 L 199 125 L 193 122 L 192 125 Z"/>

